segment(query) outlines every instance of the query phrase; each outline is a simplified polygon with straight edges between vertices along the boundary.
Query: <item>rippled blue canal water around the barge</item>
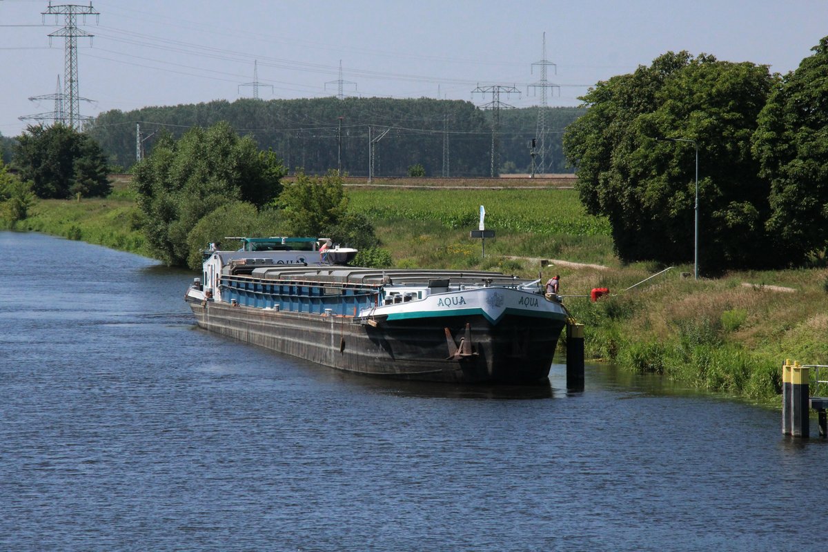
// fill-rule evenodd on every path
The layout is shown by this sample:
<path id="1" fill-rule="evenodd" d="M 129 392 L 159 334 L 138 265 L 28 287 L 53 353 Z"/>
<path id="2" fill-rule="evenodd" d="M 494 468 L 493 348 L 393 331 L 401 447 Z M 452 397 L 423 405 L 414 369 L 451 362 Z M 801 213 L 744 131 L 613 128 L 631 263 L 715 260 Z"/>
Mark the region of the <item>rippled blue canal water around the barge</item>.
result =
<path id="1" fill-rule="evenodd" d="M 588 366 L 378 382 L 196 329 L 194 276 L 0 233 L 0 550 L 816 550 L 820 439 Z"/>

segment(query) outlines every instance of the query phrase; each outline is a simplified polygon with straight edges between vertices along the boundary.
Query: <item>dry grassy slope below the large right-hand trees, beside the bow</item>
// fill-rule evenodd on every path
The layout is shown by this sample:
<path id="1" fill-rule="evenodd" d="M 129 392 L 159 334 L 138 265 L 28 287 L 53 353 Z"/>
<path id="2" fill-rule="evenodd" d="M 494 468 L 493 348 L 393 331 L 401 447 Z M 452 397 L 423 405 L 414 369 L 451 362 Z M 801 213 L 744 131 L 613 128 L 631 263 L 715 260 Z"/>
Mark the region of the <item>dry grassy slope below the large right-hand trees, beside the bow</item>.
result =
<path id="1" fill-rule="evenodd" d="M 785 358 L 828 364 L 824 269 L 732 272 L 694 281 L 681 276 L 683 268 L 623 291 L 647 277 L 645 266 L 628 266 L 602 279 L 614 295 L 595 303 L 567 300 L 586 324 L 587 350 L 635 371 L 772 403 Z M 794 291 L 744 286 L 763 281 Z"/>

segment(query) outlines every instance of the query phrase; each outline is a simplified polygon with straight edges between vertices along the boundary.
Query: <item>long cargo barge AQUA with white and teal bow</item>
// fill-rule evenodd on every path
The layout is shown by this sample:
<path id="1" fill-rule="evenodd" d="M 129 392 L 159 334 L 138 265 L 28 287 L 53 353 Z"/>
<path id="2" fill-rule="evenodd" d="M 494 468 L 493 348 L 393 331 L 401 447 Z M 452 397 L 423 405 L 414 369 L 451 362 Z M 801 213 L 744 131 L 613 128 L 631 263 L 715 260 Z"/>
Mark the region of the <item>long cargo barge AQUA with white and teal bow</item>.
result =
<path id="1" fill-rule="evenodd" d="M 205 251 L 186 291 L 204 329 L 374 377 L 460 383 L 547 378 L 568 314 L 542 282 L 493 271 L 347 266 L 325 238 L 238 239 Z"/>

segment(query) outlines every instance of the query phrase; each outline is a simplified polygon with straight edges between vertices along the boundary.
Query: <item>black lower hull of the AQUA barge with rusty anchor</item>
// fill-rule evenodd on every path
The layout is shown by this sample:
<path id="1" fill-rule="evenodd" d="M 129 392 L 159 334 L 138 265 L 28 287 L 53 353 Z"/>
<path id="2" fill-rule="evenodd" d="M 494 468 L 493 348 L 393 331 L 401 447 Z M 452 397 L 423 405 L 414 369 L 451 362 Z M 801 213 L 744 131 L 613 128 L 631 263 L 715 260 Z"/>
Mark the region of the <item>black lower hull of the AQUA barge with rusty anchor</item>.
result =
<path id="1" fill-rule="evenodd" d="M 201 328 L 345 372 L 403 380 L 531 383 L 549 377 L 563 322 L 482 315 L 360 324 L 349 316 L 262 310 L 188 299 Z M 455 355 L 469 324 L 470 348 Z"/>

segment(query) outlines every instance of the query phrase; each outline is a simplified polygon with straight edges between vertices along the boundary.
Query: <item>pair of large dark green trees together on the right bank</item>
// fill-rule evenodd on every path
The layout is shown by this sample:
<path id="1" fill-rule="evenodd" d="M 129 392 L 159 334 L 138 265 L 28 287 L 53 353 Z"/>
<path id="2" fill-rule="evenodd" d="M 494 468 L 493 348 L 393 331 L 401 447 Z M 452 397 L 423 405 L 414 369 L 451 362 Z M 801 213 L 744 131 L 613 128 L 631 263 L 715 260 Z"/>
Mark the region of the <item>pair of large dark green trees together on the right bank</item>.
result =
<path id="1" fill-rule="evenodd" d="M 564 150 L 620 258 L 692 259 L 697 197 L 702 273 L 826 263 L 828 37 L 812 50 L 785 75 L 668 52 L 590 89 Z"/>

